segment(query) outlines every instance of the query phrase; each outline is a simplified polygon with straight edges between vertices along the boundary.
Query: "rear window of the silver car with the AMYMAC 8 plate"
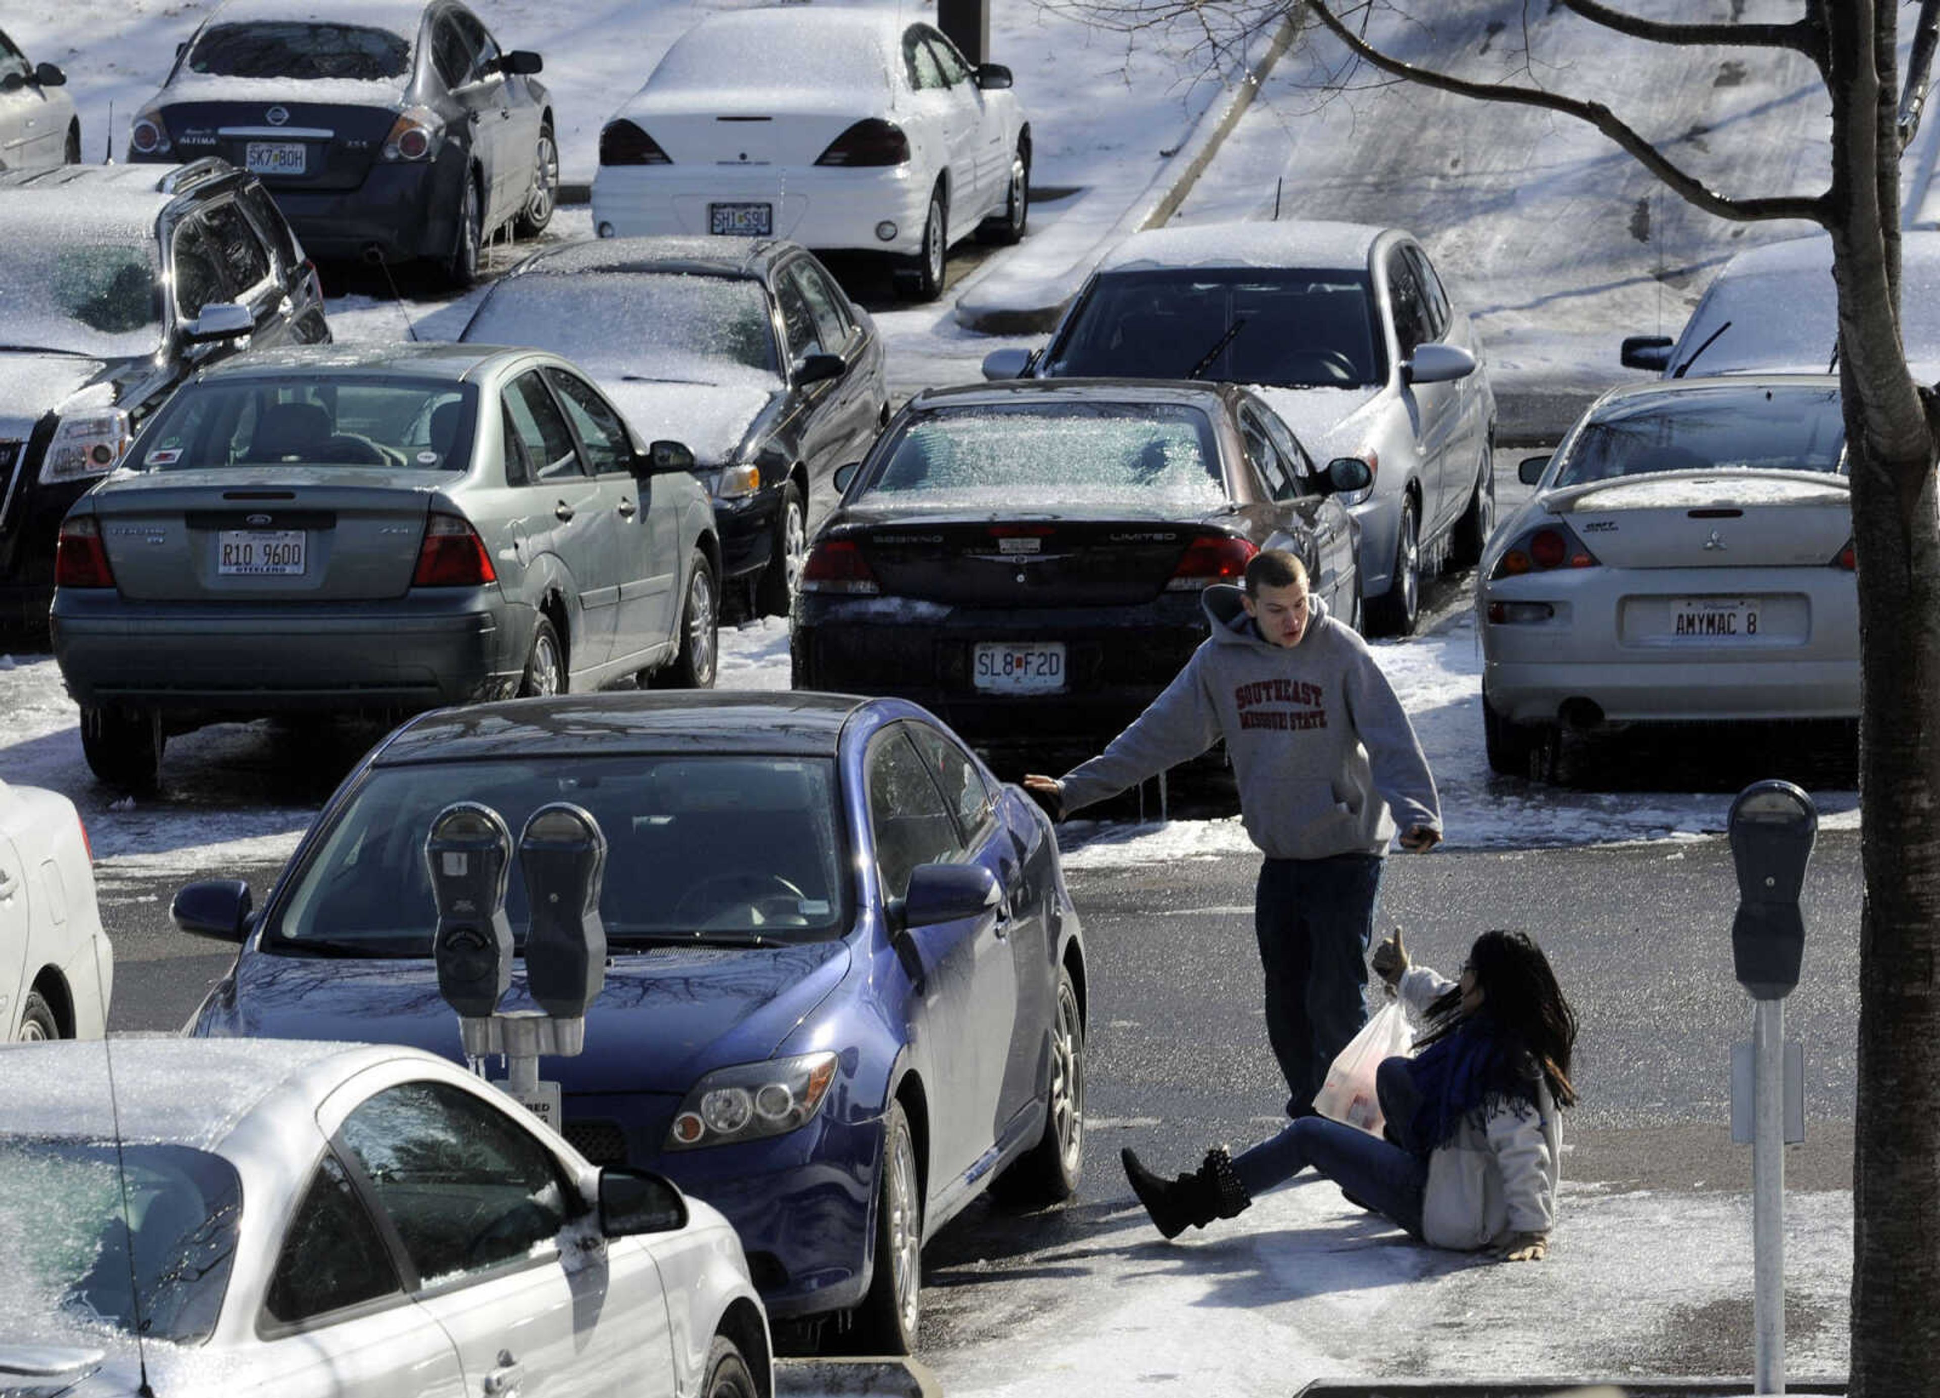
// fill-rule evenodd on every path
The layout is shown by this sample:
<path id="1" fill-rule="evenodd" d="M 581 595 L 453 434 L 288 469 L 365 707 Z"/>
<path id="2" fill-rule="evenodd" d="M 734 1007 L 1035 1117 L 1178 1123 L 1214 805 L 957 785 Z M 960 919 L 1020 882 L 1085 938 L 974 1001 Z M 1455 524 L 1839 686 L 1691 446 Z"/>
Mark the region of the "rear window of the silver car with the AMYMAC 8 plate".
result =
<path id="1" fill-rule="evenodd" d="M 1843 471 L 1835 388 L 1744 388 L 1618 401 L 1562 450 L 1552 487 L 1653 471 Z"/>

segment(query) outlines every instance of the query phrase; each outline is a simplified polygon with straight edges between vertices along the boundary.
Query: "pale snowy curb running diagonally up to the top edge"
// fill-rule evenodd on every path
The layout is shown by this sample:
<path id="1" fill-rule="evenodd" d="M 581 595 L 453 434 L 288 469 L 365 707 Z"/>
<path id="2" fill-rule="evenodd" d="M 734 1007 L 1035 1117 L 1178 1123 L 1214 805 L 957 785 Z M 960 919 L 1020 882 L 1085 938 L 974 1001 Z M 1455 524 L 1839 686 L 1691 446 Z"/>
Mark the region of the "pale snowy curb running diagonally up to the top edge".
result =
<path id="1" fill-rule="evenodd" d="M 958 295 L 956 324 L 986 335 L 1026 335 L 1051 330 L 1063 314 L 1071 297 L 1090 275 L 1098 260 L 1123 238 L 1145 229 L 1154 229 L 1178 213 L 1180 204 L 1191 194 L 1193 184 L 1205 173 L 1212 157 L 1218 155 L 1226 136 L 1232 134 L 1240 118 L 1253 105 L 1261 85 L 1273 72 L 1294 39 L 1300 35 L 1304 8 L 1294 6 L 1275 31 L 1267 52 L 1226 89 L 1224 101 L 1216 101 L 1199 112 L 1191 134 L 1166 159 L 1166 165 L 1152 176 L 1150 184 L 1125 209 L 1088 250 L 1071 266 L 1050 275 L 1005 277 L 1001 271 L 991 277 L 978 277 L 968 291 L 982 295 Z M 984 293 L 989 283 L 989 293 Z"/>

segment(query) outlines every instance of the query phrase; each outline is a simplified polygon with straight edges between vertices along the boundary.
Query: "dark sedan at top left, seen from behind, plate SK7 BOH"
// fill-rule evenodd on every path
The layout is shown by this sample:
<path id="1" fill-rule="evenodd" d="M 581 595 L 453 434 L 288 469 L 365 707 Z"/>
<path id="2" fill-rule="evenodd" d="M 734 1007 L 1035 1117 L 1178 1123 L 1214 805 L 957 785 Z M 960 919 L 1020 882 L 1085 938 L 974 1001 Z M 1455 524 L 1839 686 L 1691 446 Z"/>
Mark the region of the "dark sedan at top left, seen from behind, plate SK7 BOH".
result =
<path id="1" fill-rule="evenodd" d="M 264 178 L 316 256 L 423 258 L 468 287 L 491 237 L 553 217 L 541 66 L 456 0 L 229 0 L 136 112 L 128 159 L 221 155 Z"/>

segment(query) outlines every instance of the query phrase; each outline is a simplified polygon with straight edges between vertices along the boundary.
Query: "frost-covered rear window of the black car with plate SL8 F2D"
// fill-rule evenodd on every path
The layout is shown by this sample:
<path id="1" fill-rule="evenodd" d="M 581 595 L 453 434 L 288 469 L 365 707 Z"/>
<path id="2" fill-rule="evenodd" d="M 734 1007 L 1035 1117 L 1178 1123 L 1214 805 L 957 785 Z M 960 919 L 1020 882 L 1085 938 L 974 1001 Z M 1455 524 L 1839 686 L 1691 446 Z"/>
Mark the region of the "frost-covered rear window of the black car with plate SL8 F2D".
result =
<path id="1" fill-rule="evenodd" d="M 1018 403 L 904 423 L 857 504 L 1063 508 L 1226 502 L 1211 419 L 1180 403 Z"/>

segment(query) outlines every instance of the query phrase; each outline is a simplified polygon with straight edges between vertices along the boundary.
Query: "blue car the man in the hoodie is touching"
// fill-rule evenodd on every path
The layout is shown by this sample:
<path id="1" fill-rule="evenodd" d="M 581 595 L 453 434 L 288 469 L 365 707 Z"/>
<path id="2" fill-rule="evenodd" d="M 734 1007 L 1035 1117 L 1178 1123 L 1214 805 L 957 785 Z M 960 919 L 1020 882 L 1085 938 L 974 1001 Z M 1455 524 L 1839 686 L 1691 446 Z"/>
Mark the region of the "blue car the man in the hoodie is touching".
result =
<path id="1" fill-rule="evenodd" d="M 405 723 L 250 915 L 204 1035 L 378 1039 L 460 1059 L 438 999 L 425 836 L 452 801 L 518 830 L 551 801 L 607 838 L 611 960 L 586 1053 L 543 1059 L 594 1161 L 671 1175 L 739 1227 L 776 1320 L 916 1340 L 920 1249 L 995 1187 L 1069 1198 L 1086 969 L 1044 812 L 902 700 L 592 694 Z M 522 878 L 506 913 L 524 935 Z M 522 975 L 502 1008 L 535 1008 Z"/>

